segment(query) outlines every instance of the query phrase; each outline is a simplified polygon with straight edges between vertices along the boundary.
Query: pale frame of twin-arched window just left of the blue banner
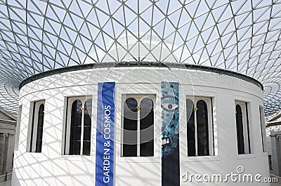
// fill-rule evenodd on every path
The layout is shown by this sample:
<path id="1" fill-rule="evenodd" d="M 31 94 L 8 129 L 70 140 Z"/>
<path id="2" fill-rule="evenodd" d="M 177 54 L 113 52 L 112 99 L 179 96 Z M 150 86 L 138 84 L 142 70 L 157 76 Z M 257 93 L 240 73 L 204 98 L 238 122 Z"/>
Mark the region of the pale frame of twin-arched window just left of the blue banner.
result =
<path id="1" fill-rule="evenodd" d="M 80 135 L 80 154 L 70 154 L 70 128 L 71 128 L 71 113 L 72 113 L 72 104 L 75 100 L 80 100 L 82 103 L 82 116 L 81 116 L 81 135 Z M 92 100 L 92 107 L 91 107 L 91 145 L 90 145 L 90 154 L 85 155 L 83 154 L 83 142 L 84 142 L 84 109 L 85 103 L 88 100 Z M 63 155 L 65 156 L 86 156 L 91 157 L 92 155 L 92 135 L 93 135 L 93 98 L 91 95 L 84 95 L 84 96 L 77 96 L 77 97 L 67 97 L 67 106 L 65 112 L 65 127 L 64 127 L 64 135 L 63 135 Z"/>

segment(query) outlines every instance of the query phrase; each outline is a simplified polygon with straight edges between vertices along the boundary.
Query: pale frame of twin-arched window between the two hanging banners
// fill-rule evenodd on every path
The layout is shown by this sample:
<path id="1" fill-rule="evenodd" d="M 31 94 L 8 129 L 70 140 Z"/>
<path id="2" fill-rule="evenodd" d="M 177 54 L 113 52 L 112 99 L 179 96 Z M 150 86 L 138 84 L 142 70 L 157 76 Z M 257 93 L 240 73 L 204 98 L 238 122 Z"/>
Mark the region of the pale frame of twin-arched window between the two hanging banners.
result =
<path id="1" fill-rule="evenodd" d="M 132 157 L 124 157 L 123 155 L 123 141 L 124 141 L 124 102 L 126 101 L 126 99 L 128 98 L 133 98 L 137 101 L 138 107 L 140 107 L 141 105 L 141 100 L 143 100 L 144 98 L 150 98 L 153 102 L 153 110 L 154 110 L 154 114 L 153 114 L 153 136 L 155 137 L 155 101 L 156 101 L 156 95 L 155 94 L 123 94 L 122 95 L 122 128 L 121 128 L 121 157 L 122 158 L 144 158 L 141 157 L 141 119 L 140 119 L 140 115 L 141 112 L 138 111 L 137 117 L 138 117 L 138 121 L 137 121 L 137 155 L 136 156 L 132 156 Z M 155 152 L 156 152 L 156 142 L 155 142 L 155 138 L 153 141 L 153 156 L 155 157 Z M 149 158 L 149 157 L 148 157 Z"/>

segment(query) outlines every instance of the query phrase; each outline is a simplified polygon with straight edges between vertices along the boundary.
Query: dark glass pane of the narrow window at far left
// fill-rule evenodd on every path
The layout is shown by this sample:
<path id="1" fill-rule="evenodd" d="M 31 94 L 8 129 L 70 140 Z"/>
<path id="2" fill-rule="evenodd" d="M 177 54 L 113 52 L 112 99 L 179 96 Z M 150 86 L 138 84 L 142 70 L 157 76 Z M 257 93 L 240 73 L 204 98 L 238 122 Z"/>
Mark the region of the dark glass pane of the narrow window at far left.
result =
<path id="1" fill-rule="evenodd" d="M 41 152 L 42 150 L 43 125 L 44 125 L 44 104 L 41 104 L 38 112 L 37 140 L 36 140 L 35 152 Z"/>

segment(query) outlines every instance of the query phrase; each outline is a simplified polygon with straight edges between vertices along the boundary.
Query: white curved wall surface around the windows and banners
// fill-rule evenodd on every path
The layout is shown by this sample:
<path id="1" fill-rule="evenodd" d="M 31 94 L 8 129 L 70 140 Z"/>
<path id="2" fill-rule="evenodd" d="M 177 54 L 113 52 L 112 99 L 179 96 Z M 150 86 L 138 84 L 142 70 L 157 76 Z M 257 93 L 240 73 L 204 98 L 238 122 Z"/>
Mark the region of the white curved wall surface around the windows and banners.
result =
<path id="1" fill-rule="evenodd" d="M 115 185 L 161 185 L 161 81 L 179 82 L 180 171 L 188 173 L 244 173 L 268 177 L 267 153 L 262 150 L 259 106 L 261 89 L 247 81 L 212 72 L 158 67 L 118 67 L 86 69 L 55 74 L 33 81 L 20 90 L 22 114 L 18 151 L 15 151 L 12 185 L 95 185 L 96 105 L 98 82 L 115 81 Z M 122 94 L 149 93 L 155 102 L 155 157 L 121 157 Z M 67 97 L 88 95 L 93 98 L 91 156 L 62 155 L 65 102 Z M 214 145 L 216 156 L 188 157 L 185 100 L 188 95 L 212 97 Z M 30 102 L 45 100 L 44 134 L 41 153 L 27 152 Z M 249 102 L 251 154 L 237 154 L 235 100 Z M 181 182 L 181 185 L 197 185 Z M 207 183 L 205 183 L 207 184 Z M 209 183 L 223 185 L 225 183 Z M 258 185 L 257 182 L 239 183 Z M 228 182 L 227 185 L 237 185 Z M 261 185 L 266 185 L 261 183 Z"/>

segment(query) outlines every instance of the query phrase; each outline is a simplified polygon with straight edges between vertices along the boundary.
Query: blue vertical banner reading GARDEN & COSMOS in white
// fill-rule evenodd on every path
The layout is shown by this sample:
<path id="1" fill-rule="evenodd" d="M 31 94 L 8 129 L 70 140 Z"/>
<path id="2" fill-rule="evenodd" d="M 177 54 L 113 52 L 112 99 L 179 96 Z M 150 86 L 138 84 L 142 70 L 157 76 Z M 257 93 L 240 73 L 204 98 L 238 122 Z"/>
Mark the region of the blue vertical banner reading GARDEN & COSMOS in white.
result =
<path id="1" fill-rule="evenodd" d="M 98 83 L 96 186 L 113 186 L 115 82 Z"/>

